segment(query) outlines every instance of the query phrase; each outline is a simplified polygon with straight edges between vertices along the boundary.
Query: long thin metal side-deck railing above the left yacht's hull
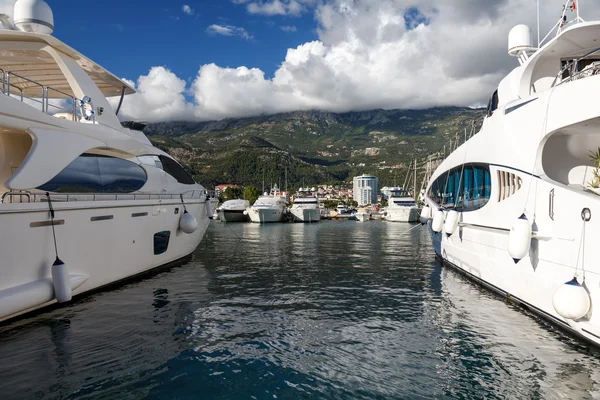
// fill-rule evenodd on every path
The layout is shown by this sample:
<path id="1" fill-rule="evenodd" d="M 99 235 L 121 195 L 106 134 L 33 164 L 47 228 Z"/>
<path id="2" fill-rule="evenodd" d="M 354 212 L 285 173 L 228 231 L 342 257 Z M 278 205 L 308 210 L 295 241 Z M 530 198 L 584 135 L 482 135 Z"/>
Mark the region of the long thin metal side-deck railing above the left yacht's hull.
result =
<path id="1" fill-rule="evenodd" d="M 207 200 L 211 196 L 205 190 L 190 190 L 184 193 L 50 193 L 53 202 L 116 201 L 116 200 Z M 13 191 L 2 195 L 1 203 L 47 202 L 46 192 Z"/>

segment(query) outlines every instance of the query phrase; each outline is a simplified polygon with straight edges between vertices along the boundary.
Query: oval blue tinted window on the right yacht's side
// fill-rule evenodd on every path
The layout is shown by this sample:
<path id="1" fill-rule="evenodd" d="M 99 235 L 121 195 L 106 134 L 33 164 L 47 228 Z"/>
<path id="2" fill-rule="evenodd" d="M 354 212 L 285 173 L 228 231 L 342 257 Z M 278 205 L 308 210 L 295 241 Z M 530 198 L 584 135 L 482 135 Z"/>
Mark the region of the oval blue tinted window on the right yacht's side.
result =
<path id="1" fill-rule="evenodd" d="M 440 175 L 429 190 L 429 198 L 446 208 L 476 210 L 490 199 L 491 175 L 487 166 L 465 164 Z"/>

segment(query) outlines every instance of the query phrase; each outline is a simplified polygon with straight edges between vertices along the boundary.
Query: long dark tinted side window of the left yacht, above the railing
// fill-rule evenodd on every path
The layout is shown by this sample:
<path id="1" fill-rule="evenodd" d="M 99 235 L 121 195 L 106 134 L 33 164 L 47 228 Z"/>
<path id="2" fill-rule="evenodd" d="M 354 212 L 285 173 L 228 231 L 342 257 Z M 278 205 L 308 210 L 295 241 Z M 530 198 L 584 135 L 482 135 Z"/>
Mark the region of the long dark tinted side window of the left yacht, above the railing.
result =
<path id="1" fill-rule="evenodd" d="M 63 193 L 129 193 L 144 186 L 146 179 L 144 169 L 131 161 L 83 154 L 38 189 Z"/>

